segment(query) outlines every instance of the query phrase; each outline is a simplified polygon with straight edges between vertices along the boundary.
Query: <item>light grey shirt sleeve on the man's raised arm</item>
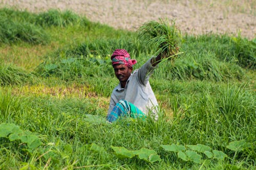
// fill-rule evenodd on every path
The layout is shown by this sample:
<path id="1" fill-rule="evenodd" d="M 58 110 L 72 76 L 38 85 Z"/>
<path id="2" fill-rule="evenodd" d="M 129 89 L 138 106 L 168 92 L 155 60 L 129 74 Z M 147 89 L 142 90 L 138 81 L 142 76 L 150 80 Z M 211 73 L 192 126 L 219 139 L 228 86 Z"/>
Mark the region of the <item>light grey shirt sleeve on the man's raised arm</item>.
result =
<path id="1" fill-rule="evenodd" d="M 153 58 L 153 57 L 152 57 Z M 153 70 L 157 68 L 157 66 L 152 66 L 151 59 L 147 60 L 138 70 L 138 80 L 144 86 L 147 84 L 148 79 L 153 74 Z"/>

